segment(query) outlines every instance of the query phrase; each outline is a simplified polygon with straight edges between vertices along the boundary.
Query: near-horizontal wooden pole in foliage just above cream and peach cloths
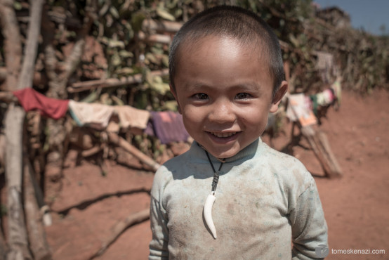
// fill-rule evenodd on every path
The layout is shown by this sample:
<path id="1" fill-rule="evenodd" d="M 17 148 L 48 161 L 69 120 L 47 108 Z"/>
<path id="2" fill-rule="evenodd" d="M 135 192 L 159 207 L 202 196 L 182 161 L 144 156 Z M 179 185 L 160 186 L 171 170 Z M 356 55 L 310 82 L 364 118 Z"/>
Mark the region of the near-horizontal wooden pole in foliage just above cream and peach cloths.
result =
<path id="1" fill-rule="evenodd" d="M 164 70 L 155 70 L 151 72 L 152 76 L 166 76 L 169 75 L 169 69 Z M 136 84 L 142 83 L 143 75 L 135 74 L 130 77 L 123 77 L 121 79 L 110 78 L 110 79 L 98 79 L 98 80 L 89 80 L 87 82 L 77 82 L 72 84 L 72 86 L 67 87 L 67 91 L 70 93 L 76 93 L 81 91 L 86 91 L 89 89 L 97 88 L 108 88 L 113 86 L 123 86 L 127 84 Z"/>

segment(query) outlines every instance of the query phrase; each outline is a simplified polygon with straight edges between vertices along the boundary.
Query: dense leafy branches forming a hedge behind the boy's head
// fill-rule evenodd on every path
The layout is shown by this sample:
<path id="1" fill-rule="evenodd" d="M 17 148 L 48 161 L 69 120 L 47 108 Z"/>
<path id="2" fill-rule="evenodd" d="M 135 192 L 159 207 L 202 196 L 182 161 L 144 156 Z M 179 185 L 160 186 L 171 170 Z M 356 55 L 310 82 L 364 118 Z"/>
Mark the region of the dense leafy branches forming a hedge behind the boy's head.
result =
<path id="1" fill-rule="evenodd" d="M 195 13 L 217 4 L 235 4 L 259 13 L 274 29 L 283 46 L 284 59 L 289 60 L 296 91 L 312 91 L 312 86 L 323 85 L 315 73 L 315 51 L 327 51 L 335 56 L 343 76 L 343 86 L 356 91 L 368 91 L 388 82 L 388 37 L 375 37 L 351 28 L 338 29 L 319 18 L 310 0 L 261 0 L 261 1 L 65 1 L 51 0 L 46 14 L 55 23 L 53 35 L 56 56 L 61 60 L 69 54 L 71 46 L 85 20 L 88 5 L 95 5 L 96 19 L 88 32 L 86 48 L 81 63 L 71 82 L 98 78 L 120 78 L 141 73 L 140 84 L 109 89 L 123 103 L 149 110 L 174 108 L 169 100 L 167 77 L 150 77 L 151 70 L 168 66 L 169 37 L 173 32 L 162 32 L 164 39 L 150 39 L 156 30 L 149 30 L 147 20 L 185 22 Z M 14 4 L 25 35 L 29 4 Z M 157 32 L 159 33 L 159 32 Z M 167 38 L 166 38 L 167 37 Z M 167 40 L 166 40 L 167 39 Z M 44 53 L 40 53 L 37 70 L 45 78 L 41 66 Z M 0 66 L 4 66 L 4 49 L 1 49 Z M 0 78 L 1 79 L 1 78 Z M 47 82 L 37 82 L 42 89 Z M 315 89 L 316 90 L 316 89 Z M 77 94 L 84 97 L 86 93 Z M 70 97 L 74 97 L 70 95 Z M 117 100 L 117 98 L 116 98 Z M 107 100 L 106 100 L 107 101 Z M 115 100 L 107 102 L 118 103 Z M 166 104 L 166 102 L 168 102 Z"/>

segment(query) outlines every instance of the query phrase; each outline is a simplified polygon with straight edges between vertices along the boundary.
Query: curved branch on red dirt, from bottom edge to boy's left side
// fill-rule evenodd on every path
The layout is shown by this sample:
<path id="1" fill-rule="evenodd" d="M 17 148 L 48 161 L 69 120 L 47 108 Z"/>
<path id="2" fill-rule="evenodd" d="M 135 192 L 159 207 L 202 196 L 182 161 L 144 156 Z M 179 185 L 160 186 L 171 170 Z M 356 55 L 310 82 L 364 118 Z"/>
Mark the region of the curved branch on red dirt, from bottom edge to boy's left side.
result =
<path id="1" fill-rule="evenodd" d="M 105 250 L 112 244 L 112 242 L 114 242 L 115 240 L 117 240 L 117 238 L 119 238 L 119 235 L 121 235 L 121 233 L 123 233 L 124 230 L 126 230 L 130 226 L 135 225 L 136 223 L 140 223 L 149 218 L 150 218 L 150 209 L 144 209 L 141 212 L 136 212 L 135 214 L 131 214 L 127 216 L 126 219 L 124 219 L 123 221 L 119 221 L 114 226 L 110 237 L 108 237 L 107 240 L 103 242 L 103 245 L 100 247 L 100 249 L 98 249 L 98 252 L 95 252 L 95 254 L 91 256 L 90 260 L 103 254 Z"/>

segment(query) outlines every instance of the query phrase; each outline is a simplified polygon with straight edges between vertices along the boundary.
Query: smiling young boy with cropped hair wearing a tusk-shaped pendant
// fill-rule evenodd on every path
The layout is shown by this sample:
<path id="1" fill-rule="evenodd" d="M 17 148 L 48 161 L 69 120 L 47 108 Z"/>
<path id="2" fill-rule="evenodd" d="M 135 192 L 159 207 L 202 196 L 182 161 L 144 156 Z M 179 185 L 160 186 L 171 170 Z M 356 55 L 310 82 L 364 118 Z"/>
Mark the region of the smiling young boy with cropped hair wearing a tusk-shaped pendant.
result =
<path id="1" fill-rule="evenodd" d="M 315 181 L 260 139 L 287 90 L 270 27 L 211 8 L 176 34 L 169 63 L 194 142 L 155 174 L 149 259 L 317 259 L 327 224 Z"/>

